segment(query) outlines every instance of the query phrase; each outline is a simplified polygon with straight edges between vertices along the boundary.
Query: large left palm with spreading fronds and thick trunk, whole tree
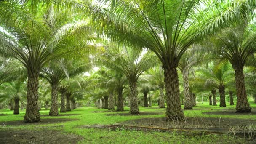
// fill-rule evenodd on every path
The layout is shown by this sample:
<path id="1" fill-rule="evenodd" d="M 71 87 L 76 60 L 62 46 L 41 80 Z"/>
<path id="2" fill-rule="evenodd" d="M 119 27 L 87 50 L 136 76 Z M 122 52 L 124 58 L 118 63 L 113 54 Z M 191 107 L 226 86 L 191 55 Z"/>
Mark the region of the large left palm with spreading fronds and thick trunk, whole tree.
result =
<path id="1" fill-rule="evenodd" d="M 5 1 L 0 3 L 2 5 Z M 87 22 L 69 10 L 57 9 L 55 5 L 34 8 L 32 5 L 35 3 L 21 5 L 19 0 L 16 4 L 13 15 L 0 15 L 3 20 L 0 25 L 0 51 L 5 56 L 18 59 L 26 67 L 27 109 L 24 121 L 37 122 L 40 121 L 37 109 L 40 70 L 51 59 L 80 48 L 77 48 L 77 38 L 86 34 Z M 6 8 L 1 6 L 1 10 Z M 9 22 L 5 23 L 7 19 Z"/>

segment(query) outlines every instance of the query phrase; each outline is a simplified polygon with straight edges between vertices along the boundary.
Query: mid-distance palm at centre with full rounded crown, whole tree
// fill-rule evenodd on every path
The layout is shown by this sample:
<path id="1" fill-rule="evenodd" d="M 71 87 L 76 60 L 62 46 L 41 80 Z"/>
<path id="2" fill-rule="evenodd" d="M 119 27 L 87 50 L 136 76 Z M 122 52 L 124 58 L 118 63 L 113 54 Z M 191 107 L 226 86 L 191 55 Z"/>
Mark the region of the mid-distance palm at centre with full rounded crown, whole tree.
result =
<path id="1" fill-rule="evenodd" d="M 139 114 L 137 101 L 139 76 L 155 64 L 152 53 L 146 52 L 144 55 L 141 53 L 142 51 L 138 49 L 114 46 L 114 48 L 108 48 L 100 59 L 107 67 L 123 73 L 128 79 L 130 84 L 130 114 Z M 118 91 L 118 93 L 122 91 Z"/>

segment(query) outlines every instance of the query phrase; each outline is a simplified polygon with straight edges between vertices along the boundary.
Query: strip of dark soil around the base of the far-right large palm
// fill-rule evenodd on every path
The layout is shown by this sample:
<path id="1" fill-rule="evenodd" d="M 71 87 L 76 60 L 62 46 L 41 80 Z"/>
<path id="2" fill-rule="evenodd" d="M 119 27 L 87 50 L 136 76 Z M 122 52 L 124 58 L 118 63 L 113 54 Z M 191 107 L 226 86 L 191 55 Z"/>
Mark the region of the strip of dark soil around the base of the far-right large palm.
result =
<path id="1" fill-rule="evenodd" d="M 203 112 L 206 115 L 256 115 L 256 109 L 252 109 L 252 112 L 237 113 L 235 109 L 221 109 L 213 112 Z"/>

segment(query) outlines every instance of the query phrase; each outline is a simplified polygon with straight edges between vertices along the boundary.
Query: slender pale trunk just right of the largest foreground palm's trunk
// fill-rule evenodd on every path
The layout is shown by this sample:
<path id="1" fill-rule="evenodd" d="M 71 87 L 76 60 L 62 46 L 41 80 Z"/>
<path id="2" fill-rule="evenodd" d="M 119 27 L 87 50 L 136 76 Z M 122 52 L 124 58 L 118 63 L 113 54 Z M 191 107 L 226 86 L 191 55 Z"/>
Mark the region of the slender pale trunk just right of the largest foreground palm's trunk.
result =
<path id="1" fill-rule="evenodd" d="M 182 71 L 182 77 L 184 88 L 184 109 L 193 109 L 192 99 L 189 93 L 188 71 L 186 69 Z"/>

